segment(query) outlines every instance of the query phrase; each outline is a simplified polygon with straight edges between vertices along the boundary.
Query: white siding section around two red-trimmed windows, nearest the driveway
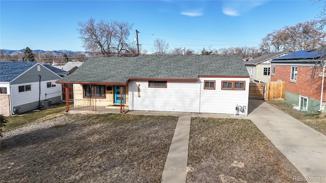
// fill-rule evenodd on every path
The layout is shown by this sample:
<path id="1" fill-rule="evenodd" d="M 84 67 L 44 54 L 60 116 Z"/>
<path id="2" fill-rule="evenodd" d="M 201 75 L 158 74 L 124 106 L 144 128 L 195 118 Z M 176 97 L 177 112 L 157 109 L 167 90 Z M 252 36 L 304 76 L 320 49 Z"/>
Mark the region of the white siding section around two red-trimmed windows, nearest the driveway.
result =
<path id="1" fill-rule="evenodd" d="M 227 113 L 235 114 L 236 105 L 246 106 L 240 114 L 247 114 L 249 98 L 249 78 L 200 78 L 214 80 L 215 89 L 204 89 L 201 86 L 200 112 L 201 113 Z M 246 81 L 245 90 L 222 90 L 222 81 Z"/>

